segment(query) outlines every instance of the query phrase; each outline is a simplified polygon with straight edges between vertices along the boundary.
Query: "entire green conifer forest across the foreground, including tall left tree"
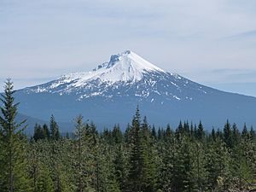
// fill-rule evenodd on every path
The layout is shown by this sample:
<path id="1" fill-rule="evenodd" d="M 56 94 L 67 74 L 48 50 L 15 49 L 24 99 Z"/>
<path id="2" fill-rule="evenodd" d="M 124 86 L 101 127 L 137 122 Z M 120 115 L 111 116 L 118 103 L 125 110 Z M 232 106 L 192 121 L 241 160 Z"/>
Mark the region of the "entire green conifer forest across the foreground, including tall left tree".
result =
<path id="1" fill-rule="evenodd" d="M 7 80 L 0 104 L 1 192 L 256 191 L 256 133 L 246 124 L 227 120 L 207 131 L 201 119 L 159 128 L 137 107 L 125 129 L 98 131 L 79 115 L 64 135 L 49 114 L 49 125 L 37 124 L 27 136 L 26 120 L 15 119 L 14 93 Z"/>

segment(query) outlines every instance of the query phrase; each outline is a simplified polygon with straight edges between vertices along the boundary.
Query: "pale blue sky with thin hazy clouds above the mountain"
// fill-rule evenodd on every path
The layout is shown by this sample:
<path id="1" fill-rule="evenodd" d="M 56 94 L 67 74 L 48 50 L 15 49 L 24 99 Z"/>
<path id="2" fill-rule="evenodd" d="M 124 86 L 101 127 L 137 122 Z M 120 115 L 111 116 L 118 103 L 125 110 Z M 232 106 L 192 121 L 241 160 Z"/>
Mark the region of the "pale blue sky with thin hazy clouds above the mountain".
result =
<path id="1" fill-rule="evenodd" d="M 0 81 L 20 89 L 131 49 L 169 72 L 256 96 L 255 8 L 254 0 L 0 0 Z"/>

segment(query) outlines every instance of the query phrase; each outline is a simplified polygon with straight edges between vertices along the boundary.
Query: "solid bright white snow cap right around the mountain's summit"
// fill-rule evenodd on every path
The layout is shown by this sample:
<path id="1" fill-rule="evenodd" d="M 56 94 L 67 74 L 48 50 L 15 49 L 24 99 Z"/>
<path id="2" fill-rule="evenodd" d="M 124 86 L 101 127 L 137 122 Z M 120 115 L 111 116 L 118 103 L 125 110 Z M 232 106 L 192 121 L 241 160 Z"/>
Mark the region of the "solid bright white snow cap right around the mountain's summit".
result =
<path id="1" fill-rule="evenodd" d="M 104 62 L 91 72 L 71 73 L 62 76 L 61 79 L 66 82 L 76 80 L 75 86 L 80 86 L 86 81 L 94 79 L 110 83 L 118 81 L 135 82 L 143 79 L 143 73 L 147 72 L 165 73 L 164 70 L 144 60 L 131 50 L 126 50 L 121 54 L 112 55 L 108 62 Z"/>

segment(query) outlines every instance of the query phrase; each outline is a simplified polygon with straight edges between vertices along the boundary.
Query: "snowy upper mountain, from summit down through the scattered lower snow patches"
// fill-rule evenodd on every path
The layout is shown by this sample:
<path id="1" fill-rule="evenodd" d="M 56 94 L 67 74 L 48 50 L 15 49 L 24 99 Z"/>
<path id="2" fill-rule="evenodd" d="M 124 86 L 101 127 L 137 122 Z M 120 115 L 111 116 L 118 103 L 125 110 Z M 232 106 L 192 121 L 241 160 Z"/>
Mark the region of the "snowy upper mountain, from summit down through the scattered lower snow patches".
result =
<path id="1" fill-rule="evenodd" d="M 188 92 L 188 90 L 190 90 Z M 207 94 L 204 89 L 176 73 L 168 73 L 127 50 L 112 55 L 91 72 L 70 73 L 47 84 L 26 88 L 26 93 L 75 95 L 77 101 L 102 96 L 108 100 L 114 96 L 136 96 L 140 100 L 164 104 L 165 100 L 192 100 L 194 92 Z M 156 97 L 163 97 L 156 99 Z"/>

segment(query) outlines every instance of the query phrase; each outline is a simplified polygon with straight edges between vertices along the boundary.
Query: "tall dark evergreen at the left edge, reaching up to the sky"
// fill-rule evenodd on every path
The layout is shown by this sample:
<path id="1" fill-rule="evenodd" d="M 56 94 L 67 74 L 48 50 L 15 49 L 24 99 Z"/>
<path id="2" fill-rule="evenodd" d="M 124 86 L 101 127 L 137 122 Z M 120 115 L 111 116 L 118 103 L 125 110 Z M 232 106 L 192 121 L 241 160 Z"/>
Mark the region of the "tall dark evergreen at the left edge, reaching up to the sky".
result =
<path id="1" fill-rule="evenodd" d="M 15 121 L 19 103 L 15 103 L 14 93 L 14 85 L 7 79 L 4 94 L 1 95 L 3 107 L 0 115 L 0 189 L 8 192 L 25 192 L 31 189 L 24 149 L 26 137 L 23 136 L 26 120 L 20 123 Z"/>

